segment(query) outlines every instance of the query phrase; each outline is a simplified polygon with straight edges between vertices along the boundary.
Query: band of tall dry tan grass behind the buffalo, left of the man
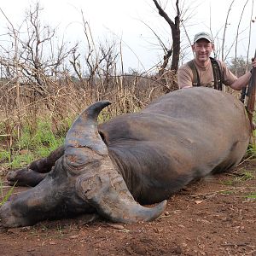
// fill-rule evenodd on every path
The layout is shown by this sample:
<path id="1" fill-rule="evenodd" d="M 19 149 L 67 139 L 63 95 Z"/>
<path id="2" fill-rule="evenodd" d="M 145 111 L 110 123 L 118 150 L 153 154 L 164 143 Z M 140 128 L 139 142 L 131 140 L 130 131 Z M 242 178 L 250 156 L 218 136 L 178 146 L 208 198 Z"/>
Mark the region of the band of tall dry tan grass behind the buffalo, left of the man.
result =
<path id="1" fill-rule="evenodd" d="M 113 102 L 102 114 L 102 120 L 106 120 L 121 113 L 137 112 L 164 94 L 158 79 L 139 75 L 117 75 L 108 78 L 108 83 L 102 79 L 89 83 L 66 73 L 61 79 L 44 77 L 44 88 L 26 77 L 19 80 L 0 82 L 0 142 L 8 143 L 9 147 L 20 137 L 23 125 L 29 124 L 36 131 L 38 119 L 50 119 L 52 131 L 58 132 L 63 129 L 64 120 L 70 123 L 92 102 Z"/>

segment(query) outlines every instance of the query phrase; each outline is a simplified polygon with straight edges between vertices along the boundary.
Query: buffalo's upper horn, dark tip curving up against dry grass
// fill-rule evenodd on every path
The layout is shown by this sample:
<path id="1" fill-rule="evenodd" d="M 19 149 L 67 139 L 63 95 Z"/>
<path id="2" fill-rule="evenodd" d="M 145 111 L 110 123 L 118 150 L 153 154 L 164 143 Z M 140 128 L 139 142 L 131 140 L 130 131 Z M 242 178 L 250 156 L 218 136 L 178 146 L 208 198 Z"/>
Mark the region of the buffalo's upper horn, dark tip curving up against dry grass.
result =
<path id="1" fill-rule="evenodd" d="M 96 102 L 84 110 L 67 131 L 65 158 L 70 166 L 81 166 L 108 154 L 97 129 L 97 117 L 111 102 Z"/>

